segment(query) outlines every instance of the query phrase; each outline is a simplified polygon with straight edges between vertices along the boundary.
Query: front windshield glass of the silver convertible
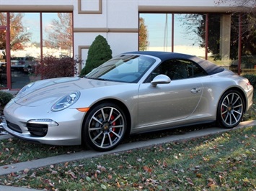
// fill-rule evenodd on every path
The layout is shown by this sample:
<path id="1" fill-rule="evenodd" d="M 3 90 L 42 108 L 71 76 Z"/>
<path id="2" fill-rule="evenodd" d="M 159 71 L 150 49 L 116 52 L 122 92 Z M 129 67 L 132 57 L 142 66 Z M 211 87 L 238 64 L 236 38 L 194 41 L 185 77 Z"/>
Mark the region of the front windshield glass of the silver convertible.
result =
<path id="1" fill-rule="evenodd" d="M 138 83 L 156 60 L 144 55 L 120 55 L 100 65 L 85 78 Z"/>

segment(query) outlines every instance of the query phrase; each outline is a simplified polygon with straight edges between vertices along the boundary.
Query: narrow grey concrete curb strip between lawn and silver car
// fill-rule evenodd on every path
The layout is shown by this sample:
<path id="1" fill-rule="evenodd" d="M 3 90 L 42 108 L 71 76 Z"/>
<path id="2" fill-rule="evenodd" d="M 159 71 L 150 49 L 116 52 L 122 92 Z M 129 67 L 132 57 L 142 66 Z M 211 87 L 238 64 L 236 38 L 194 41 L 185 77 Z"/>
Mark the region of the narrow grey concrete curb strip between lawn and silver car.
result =
<path id="1" fill-rule="evenodd" d="M 256 121 L 244 121 L 239 124 L 239 126 L 235 127 L 234 129 L 243 128 L 246 126 L 256 126 Z M 234 129 L 221 129 L 219 127 L 210 127 L 207 129 L 201 129 L 198 131 L 188 131 L 185 134 L 175 134 L 171 136 L 166 136 L 158 139 L 150 139 L 146 141 L 136 141 L 127 144 L 120 144 L 117 148 L 110 152 L 95 152 L 93 150 L 82 151 L 72 154 L 62 154 L 56 157 L 47 157 L 44 159 L 37 159 L 27 162 L 19 162 L 17 164 L 9 164 L 0 167 L 0 175 L 10 174 L 12 172 L 23 171 L 24 169 L 36 169 L 38 167 L 45 167 L 51 164 L 58 164 L 61 162 L 70 162 L 74 160 L 81 160 L 81 159 L 89 159 L 92 157 L 99 157 L 103 154 L 112 154 L 118 152 L 125 152 L 131 149 L 138 149 L 144 148 L 148 146 L 154 146 L 157 144 L 164 144 L 171 141 L 180 141 L 184 139 L 194 139 L 201 136 L 207 136 L 211 134 L 217 134 L 224 131 L 232 131 Z M 1 135 L 0 139 L 8 139 L 12 137 L 9 134 Z M 12 186 L 4 186 L 0 185 L 0 191 L 35 191 L 35 189 L 25 188 L 25 187 L 12 187 Z"/>

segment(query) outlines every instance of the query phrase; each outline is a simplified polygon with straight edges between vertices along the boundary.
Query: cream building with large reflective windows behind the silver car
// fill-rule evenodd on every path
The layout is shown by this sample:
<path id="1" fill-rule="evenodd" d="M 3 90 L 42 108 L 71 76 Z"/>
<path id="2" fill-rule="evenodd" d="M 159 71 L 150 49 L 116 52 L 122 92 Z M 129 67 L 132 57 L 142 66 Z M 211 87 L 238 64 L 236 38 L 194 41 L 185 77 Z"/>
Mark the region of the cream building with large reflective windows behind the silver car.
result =
<path id="1" fill-rule="evenodd" d="M 48 55 L 80 57 L 80 72 L 97 35 L 107 39 L 112 56 L 161 50 L 229 66 L 239 56 L 236 11 L 214 0 L 0 0 L 0 89 L 38 80 L 32 68 Z"/>

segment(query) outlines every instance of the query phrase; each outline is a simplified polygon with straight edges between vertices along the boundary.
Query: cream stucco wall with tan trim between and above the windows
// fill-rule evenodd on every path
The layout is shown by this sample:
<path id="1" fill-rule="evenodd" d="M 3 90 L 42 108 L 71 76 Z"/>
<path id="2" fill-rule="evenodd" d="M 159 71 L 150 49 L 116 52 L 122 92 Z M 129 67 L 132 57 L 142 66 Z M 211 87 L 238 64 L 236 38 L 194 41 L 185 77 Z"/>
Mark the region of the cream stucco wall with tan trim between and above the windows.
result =
<path id="1" fill-rule="evenodd" d="M 1 11 L 73 11 L 74 55 L 83 60 L 92 41 L 101 34 L 112 55 L 138 50 L 138 12 L 225 12 L 214 0 L 0 0 Z"/>

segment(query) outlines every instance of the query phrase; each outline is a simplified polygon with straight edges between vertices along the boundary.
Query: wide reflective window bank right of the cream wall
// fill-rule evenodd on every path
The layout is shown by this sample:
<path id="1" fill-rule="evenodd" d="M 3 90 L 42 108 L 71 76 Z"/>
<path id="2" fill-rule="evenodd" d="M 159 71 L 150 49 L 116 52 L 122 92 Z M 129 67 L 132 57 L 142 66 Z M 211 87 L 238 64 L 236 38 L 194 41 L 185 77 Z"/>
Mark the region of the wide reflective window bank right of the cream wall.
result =
<path id="1" fill-rule="evenodd" d="M 144 40 L 139 45 L 146 45 L 144 50 L 196 55 L 234 72 L 240 52 L 241 74 L 256 73 L 254 15 L 144 13 L 139 17 L 139 40 Z"/>

